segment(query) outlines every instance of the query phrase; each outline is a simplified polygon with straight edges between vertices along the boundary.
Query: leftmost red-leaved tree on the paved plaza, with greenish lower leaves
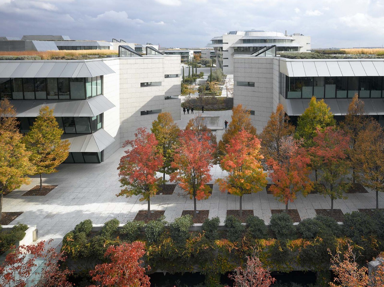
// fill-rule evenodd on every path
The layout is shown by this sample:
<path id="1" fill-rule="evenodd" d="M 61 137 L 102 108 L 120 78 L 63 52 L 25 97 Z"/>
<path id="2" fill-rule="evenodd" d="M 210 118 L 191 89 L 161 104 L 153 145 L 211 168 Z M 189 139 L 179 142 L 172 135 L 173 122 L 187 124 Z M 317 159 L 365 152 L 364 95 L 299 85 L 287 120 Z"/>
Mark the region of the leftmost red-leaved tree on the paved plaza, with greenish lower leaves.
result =
<path id="1" fill-rule="evenodd" d="M 148 203 L 147 217 L 151 215 L 151 197 L 156 195 L 160 177 L 156 176 L 163 165 L 162 154 L 157 149 L 158 141 L 146 128 L 139 128 L 134 140 L 127 140 L 123 147 L 130 146 L 120 158 L 119 181 L 124 187 L 117 196 L 141 195 L 140 201 Z"/>

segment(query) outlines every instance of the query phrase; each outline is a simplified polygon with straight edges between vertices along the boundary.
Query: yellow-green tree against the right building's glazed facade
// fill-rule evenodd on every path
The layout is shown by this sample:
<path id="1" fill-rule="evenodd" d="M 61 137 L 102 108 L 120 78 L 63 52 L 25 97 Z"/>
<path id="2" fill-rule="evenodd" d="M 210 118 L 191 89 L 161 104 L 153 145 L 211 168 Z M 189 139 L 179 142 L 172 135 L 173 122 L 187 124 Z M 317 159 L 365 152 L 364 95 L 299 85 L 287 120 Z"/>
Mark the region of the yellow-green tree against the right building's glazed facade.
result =
<path id="1" fill-rule="evenodd" d="M 316 101 L 316 97 L 312 97 L 308 108 L 298 119 L 295 138 L 303 139 L 305 147 L 312 147 L 317 129 L 323 130 L 334 125 L 336 125 L 336 120 L 324 99 Z"/>

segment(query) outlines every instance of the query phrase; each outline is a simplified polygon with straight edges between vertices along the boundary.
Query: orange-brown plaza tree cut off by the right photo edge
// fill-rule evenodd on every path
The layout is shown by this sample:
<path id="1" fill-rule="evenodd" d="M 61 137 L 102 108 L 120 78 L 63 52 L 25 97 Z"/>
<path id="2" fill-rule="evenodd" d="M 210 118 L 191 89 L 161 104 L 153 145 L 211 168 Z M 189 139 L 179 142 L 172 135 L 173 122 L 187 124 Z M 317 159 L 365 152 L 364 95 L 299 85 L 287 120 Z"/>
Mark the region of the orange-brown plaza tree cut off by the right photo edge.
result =
<path id="1" fill-rule="evenodd" d="M 376 120 L 358 133 L 351 158 L 358 181 L 376 191 L 378 209 L 379 191 L 384 192 L 384 132 Z"/>

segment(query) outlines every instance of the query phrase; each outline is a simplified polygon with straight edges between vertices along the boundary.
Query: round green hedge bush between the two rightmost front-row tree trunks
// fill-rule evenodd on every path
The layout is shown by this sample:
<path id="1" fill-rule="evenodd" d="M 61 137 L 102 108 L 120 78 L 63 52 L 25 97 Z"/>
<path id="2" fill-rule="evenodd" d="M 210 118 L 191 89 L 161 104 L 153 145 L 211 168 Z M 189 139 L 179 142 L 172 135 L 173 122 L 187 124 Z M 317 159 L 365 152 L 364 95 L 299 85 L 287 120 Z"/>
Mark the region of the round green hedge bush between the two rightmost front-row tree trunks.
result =
<path id="1" fill-rule="evenodd" d="M 368 215 L 353 211 L 344 215 L 345 235 L 358 243 L 361 236 L 368 237 L 375 232 L 374 221 Z"/>

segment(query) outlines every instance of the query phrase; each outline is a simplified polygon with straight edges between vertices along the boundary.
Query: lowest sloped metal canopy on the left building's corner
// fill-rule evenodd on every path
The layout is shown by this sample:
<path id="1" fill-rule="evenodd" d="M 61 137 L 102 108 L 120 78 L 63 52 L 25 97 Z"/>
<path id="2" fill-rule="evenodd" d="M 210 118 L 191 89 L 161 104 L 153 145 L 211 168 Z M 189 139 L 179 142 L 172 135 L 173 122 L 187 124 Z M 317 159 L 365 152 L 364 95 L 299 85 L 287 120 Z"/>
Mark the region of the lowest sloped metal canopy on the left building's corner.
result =
<path id="1" fill-rule="evenodd" d="M 63 135 L 61 139 L 71 143 L 70 152 L 101 152 L 115 141 L 104 129 L 89 135 Z"/>

